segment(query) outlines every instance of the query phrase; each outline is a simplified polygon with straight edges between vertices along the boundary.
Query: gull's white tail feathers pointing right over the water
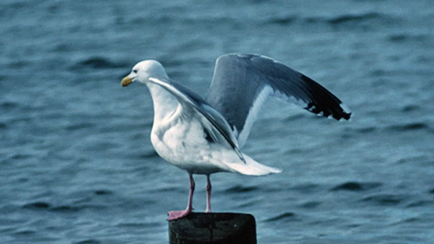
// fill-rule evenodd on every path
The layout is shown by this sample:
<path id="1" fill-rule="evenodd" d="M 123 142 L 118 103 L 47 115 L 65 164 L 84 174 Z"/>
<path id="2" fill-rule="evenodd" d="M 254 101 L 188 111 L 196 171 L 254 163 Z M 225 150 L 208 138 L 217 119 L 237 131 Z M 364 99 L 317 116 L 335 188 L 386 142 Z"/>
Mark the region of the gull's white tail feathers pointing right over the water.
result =
<path id="1" fill-rule="evenodd" d="M 271 173 L 280 173 L 282 170 L 278 168 L 268 167 L 254 161 L 251 157 L 243 154 L 246 163 L 225 163 L 228 167 L 238 173 L 246 175 L 267 175 Z"/>

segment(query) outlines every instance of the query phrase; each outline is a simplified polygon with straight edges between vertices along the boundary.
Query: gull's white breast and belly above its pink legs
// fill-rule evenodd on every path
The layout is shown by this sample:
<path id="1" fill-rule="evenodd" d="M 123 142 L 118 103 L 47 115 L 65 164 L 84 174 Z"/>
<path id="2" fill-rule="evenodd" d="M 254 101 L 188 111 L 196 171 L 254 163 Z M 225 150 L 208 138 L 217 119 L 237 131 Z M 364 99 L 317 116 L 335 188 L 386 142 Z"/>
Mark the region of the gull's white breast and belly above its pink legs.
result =
<path id="1" fill-rule="evenodd" d="M 164 122 L 155 122 L 151 142 L 162 158 L 189 173 L 233 172 L 224 161 L 238 159 L 235 152 L 206 140 L 196 113 L 191 118 L 169 115 Z"/>

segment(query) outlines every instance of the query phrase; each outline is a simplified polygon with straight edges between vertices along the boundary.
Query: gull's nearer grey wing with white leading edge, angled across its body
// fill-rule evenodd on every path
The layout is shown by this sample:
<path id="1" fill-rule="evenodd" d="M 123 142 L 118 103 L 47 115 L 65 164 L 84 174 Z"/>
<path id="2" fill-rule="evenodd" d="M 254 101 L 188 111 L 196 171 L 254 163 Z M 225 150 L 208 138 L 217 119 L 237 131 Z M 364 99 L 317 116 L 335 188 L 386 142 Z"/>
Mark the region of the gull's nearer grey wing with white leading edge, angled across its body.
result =
<path id="1" fill-rule="evenodd" d="M 237 139 L 226 119 L 201 96 L 174 80 L 157 78 L 149 78 L 149 80 L 171 93 L 182 106 L 188 106 L 191 110 L 196 111 L 201 116 L 201 123 L 204 126 L 206 135 L 210 136 L 214 142 L 222 144 L 226 148 L 232 148 L 241 161 L 246 163 L 238 148 Z"/>

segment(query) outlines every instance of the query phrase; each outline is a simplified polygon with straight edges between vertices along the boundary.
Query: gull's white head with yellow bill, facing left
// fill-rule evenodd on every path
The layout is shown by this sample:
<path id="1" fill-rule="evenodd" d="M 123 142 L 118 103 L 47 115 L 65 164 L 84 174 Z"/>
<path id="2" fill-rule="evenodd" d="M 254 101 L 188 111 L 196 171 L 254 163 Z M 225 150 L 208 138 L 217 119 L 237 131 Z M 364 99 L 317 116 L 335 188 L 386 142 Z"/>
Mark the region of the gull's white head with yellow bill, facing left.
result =
<path id="1" fill-rule="evenodd" d="M 125 76 L 122 81 L 122 87 L 126 87 L 134 81 L 148 83 L 149 78 L 168 78 L 163 65 L 155 60 L 145 60 L 134 65 L 130 74 Z"/>

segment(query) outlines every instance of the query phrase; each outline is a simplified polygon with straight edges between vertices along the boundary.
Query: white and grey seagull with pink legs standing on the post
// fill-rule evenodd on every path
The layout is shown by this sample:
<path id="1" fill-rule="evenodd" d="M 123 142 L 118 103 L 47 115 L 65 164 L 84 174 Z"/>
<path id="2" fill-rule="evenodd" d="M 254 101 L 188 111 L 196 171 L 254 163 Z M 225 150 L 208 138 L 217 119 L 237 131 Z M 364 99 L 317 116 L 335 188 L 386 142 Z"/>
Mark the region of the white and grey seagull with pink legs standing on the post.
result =
<path id="1" fill-rule="evenodd" d="M 151 142 L 155 151 L 190 177 L 187 209 L 169 212 L 169 221 L 193 211 L 193 174 L 207 177 L 206 212 L 211 212 L 210 174 L 260 176 L 282 171 L 260 164 L 240 151 L 268 96 L 337 120 L 349 120 L 352 113 L 319 83 L 273 58 L 256 54 L 231 53 L 217 58 L 205 99 L 170 79 L 155 60 L 136 64 L 121 84 L 125 87 L 132 82 L 144 83 L 151 93 Z"/>

